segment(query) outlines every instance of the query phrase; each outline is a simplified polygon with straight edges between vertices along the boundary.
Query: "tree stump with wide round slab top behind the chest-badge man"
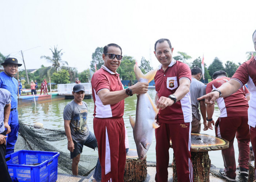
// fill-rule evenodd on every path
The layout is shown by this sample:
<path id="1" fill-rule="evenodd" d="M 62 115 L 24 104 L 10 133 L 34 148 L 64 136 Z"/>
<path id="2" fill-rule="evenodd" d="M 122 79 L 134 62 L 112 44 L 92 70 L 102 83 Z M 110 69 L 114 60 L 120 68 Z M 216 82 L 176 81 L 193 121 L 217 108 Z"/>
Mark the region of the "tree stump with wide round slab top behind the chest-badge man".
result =
<path id="1" fill-rule="evenodd" d="M 172 141 L 170 142 L 172 147 Z M 225 139 L 206 134 L 191 133 L 191 161 L 193 165 L 194 182 L 210 182 L 210 167 L 208 151 L 222 150 L 229 147 Z M 173 160 L 173 182 L 177 182 L 175 158 Z"/>

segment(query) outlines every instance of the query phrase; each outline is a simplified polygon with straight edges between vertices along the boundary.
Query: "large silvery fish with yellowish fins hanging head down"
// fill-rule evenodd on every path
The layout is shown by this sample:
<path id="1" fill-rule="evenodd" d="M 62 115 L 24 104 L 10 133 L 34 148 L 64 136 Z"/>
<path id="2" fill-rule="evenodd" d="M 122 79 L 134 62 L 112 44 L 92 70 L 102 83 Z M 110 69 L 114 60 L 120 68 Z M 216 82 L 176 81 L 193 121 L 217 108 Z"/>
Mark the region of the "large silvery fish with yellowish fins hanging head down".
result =
<path id="1" fill-rule="evenodd" d="M 139 82 L 149 83 L 153 80 L 157 70 L 151 70 L 144 75 L 140 68 L 135 65 L 134 72 Z M 154 129 L 159 127 L 155 120 L 158 111 L 159 109 L 157 109 L 148 93 L 139 94 L 136 106 L 136 121 L 130 116 L 139 159 L 144 159 L 146 156 L 153 140 Z"/>

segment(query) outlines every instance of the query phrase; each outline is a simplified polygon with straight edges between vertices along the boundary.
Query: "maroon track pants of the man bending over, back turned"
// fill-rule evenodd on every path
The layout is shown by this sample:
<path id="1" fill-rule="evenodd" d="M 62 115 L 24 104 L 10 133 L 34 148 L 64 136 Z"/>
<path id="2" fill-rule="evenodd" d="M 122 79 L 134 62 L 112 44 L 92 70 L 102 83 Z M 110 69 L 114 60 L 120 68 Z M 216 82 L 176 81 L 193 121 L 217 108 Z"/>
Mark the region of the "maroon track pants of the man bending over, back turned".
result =
<path id="1" fill-rule="evenodd" d="M 240 167 L 248 169 L 250 132 L 247 123 L 248 116 L 218 118 L 215 123 L 216 136 L 229 141 L 229 148 L 223 149 L 221 152 L 227 176 L 231 178 L 236 177 L 236 159 L 233 146 L 235 137 L 239 151 L 238 164 Z"/>

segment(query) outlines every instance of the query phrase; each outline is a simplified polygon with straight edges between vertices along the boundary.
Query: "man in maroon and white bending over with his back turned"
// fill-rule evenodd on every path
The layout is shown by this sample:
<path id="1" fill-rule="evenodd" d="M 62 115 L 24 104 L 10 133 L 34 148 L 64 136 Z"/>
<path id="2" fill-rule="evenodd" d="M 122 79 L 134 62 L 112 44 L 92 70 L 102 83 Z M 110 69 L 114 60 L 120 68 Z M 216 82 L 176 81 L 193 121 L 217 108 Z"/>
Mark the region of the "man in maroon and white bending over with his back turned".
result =
<path id="1" fill-rule="evenodd" d="M 206 93 L 210 93 L 214 89 L 218 89 L 228 82 L 225 71 L 216 71 L 212 75 L 212 81 L 206 86 Z M 229 181 L 236 181 L 236 160 L 234 151 L 234 138 L 238 143 L 238 163 L 239 172 L 242 176 L 248 176 L 249 161 L 249 143 L 250 131 L 248 126 L 248 100 L 245 95 L 249 93 L 248 89 L 243 86 L 234 94 L 225 98 L 218 98 L 217 104 L 221 112 L 216 123 L 212 120 L 214 113 L 214 105 L 207 104 L 207 121 L 208 127 L 212 130 L 211 124 L 215 125 L 215 134 L 229 141 L 229 148 L 221 150 L 225 169 L 221 169 L 219 173 Z"/>

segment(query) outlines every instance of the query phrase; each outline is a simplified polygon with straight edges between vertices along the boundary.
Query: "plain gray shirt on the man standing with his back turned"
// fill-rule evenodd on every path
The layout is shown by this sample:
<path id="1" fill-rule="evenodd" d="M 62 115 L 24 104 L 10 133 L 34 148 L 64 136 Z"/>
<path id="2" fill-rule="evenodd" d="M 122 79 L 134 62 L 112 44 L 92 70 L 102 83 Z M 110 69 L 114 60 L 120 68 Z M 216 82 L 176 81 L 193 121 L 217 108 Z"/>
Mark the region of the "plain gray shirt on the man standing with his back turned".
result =
<path id="1" fill-rule="evenodd" d="M 192 117 L 200 120 L 201 116 L 198 109 L 199 101 L 197 98 L 206 95 L 206 87 L 202 82 L 192 77 L 189 91 L 191 95 Z"/>

